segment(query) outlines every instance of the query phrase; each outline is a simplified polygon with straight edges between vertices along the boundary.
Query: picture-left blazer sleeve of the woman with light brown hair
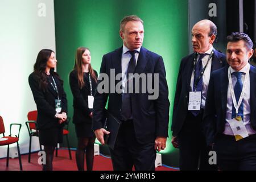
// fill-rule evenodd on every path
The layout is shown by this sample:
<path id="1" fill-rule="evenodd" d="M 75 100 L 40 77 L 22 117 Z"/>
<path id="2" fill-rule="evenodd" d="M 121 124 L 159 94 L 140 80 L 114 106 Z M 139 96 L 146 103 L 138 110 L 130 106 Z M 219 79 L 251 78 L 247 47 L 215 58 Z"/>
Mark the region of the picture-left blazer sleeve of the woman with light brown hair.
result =
<path id="1" fill-rule="evenodd" d="M 77 109 L 82 110 L 86 113 L 86 115 L 89 115 L 91 111 L 88 107 L 88 103 L 84 100 L 84 97 L 82 97 L 76 72 L 71 72 L 69 74 L 69 85 Z"/>

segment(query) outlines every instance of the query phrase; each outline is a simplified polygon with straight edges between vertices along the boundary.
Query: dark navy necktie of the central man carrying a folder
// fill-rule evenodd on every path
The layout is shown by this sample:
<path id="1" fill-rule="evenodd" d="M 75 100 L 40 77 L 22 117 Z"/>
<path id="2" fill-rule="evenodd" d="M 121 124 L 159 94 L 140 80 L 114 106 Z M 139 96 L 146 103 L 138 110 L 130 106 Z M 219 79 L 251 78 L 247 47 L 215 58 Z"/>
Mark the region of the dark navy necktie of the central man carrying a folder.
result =
<path id="1" fill-rule="evenodd" d="M 126 84 L 125 84 L 125 90 L 127 90 L 127 92 L 123 93 L 123 97 L 122 97 L 122 117 L 123 119 L 126 121 L 127 119 L 131 119 L 131 113 L 132 113 L 132 109 L 131 109 L 131 97 L 129 94 L 129 89 L 133 89 L 132 85 L 129 85 L 129 73 L 134 73 L 135 72 L 135 67 L 136 67 L 136 59 L 135 59 L 135 53 L 138 51 L 127 51 L 131 54 L 131 59 L 129 61 L 129 65 L 128 65 L 128 69 L 127 69 L 127 73 L 126 73 Z M 131 78 L 130 78 L 131 79 Z"/>

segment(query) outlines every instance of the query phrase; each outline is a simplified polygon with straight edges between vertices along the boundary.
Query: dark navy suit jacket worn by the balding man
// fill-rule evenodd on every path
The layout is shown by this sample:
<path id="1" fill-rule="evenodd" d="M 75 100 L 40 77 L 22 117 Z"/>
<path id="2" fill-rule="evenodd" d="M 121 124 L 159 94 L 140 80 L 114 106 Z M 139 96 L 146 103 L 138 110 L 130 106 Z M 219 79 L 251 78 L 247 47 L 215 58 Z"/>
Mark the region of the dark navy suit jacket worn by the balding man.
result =
<path id="1" fill-rule="evenodd" d="M 172 115 L 172 135 L 179 134 L 188 113 L 188 100 L 191 75 L 193 71 L 193 59 L 195 53 L 184 57 L 180 63 L 179 75 L 177 77 L 176 93 L 174 99 L 174 111 Z M 220 69 L 226 65 L 226 56 L 214 50 L 210 72 Z"/>

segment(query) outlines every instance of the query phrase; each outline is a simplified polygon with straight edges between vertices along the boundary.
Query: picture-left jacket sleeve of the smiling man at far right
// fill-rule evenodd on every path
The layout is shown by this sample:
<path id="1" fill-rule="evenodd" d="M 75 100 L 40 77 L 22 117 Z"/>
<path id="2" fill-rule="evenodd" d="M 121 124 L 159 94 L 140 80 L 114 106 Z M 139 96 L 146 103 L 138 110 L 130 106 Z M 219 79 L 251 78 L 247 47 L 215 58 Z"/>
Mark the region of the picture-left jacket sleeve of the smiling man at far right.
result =
<path id="1" fill-rule="evenodd" d="M 207 144 L 214 143 L 214 135 L 216 133 L 216 103 L 214 96 L 214 72 L 210 77 L 208 91 L 207 91 L 207 100 L 205 102 L 205 110 L 203 116 L 203 133 L 207 140 Z M 220 94 L 220 93 L 218 93 Z"/>

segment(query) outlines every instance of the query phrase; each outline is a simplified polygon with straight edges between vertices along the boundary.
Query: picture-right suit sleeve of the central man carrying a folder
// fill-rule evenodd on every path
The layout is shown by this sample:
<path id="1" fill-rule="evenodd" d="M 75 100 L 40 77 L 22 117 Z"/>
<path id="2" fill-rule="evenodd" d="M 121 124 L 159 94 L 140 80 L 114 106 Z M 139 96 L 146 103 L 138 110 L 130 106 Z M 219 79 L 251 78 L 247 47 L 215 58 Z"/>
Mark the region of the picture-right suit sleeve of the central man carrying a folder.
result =
<path id="1" fill-rule="evenodd" d="M 155 73 L 159 74 L 159 96 L 156 100 L 156 136 L 168 137 L 169 108 L 168 85 L 166 81 L 166 69 L 163 58 L 159 57 L 155 65 Z"/>

